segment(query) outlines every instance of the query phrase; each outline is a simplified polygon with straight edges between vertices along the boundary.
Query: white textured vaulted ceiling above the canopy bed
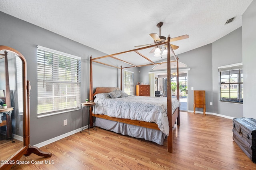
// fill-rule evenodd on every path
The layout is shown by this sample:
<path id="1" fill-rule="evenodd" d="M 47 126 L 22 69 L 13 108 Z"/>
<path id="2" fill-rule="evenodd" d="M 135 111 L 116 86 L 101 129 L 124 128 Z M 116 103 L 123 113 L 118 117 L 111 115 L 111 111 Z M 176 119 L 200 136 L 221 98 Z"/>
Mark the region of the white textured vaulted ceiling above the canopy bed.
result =
<path id="1" fill-rule="evenodd" d="M 150 33 L 189 38 L 176 55 L 212 43 L 242 26 L 252 0 L 0 0 L 0 11 L 107 54 L 153 43 Z M 236 17 L 233 22 L 226 20 Z M 145 51 L 147 57 L 157 61 Z M 98 56 L 94 56 L 98 57 Z M 148 61 L 146 61 L 148 62 Z"/>

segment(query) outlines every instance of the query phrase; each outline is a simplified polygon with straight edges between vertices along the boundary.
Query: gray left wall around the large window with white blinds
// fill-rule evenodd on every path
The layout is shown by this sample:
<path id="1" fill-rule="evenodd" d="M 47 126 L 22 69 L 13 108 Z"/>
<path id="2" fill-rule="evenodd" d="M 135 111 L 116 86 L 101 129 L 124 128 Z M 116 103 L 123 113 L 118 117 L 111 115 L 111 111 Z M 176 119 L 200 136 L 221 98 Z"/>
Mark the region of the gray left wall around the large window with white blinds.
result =
<path id="1" fill-rule="evenodd" d="M 36 46 L 41 45 L 82 57 L 81 102 L 89 97 L 90 55 L 100 57 L 106 54 L 2 12 L 0 12 L 0 23 L 0 45 L 6 45 L 20 51 L 27 61 L 27 77 L 32 86 L 30 91 L 30 144 L 38 144 L 80 128 L 82 123 L 81 110 L 37 118 Z M 94 63 L 93 73 L 93 87 L 120 87 L 120 71 L 118 69 Z M 86 126 L 88 117 L 84 116 L 83 118 L 83 126 Z M 67 126 L 63 126 L 64 119 L 68 119 Z"/>

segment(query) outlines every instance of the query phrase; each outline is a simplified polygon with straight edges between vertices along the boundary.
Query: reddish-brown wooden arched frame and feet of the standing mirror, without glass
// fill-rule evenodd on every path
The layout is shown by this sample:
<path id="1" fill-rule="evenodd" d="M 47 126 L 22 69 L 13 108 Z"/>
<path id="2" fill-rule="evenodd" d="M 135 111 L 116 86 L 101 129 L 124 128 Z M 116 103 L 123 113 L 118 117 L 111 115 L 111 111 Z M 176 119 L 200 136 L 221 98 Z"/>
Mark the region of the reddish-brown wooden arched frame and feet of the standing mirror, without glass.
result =
<path id="1" fill-rule="evenodd" d="M 20 158 L 24 156 L 29 156 L 30 154 L 34 153 L 39 156 L 44 157 L 51 157 L 52 154 L 49 152 L 42 152 L 39 148 L 36 146 L 30 146 L 30 81 L 27 80 L 27 63 L 25 57 L 17 50 L 7 47 L 4 45 L 0 45 L 0 51 L 7 51 L 12 52 L 18 55 L 20 59 L 22 60 L 22 72 L 23 72 L 23 147 L 20 148 L 15 154 L 13 154 L 9 159 L 8 162 L 14 160 L 20 160 Z M 1 169 L 10 169 L 14 164 L 1 164 Z"/>

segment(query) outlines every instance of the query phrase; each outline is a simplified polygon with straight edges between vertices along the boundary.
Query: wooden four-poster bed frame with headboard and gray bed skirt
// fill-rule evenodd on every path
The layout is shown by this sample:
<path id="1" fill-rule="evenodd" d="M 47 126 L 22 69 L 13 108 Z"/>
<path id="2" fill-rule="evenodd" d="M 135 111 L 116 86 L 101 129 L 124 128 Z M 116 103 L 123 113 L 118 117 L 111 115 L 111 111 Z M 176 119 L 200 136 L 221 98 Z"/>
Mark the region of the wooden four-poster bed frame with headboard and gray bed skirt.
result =
<path id="1" fill-rule="evenodd" d="M 187 36 L 188 37 L 188 36 Z M 166 103 L 166 120 L 168 120 L 168 130 L 163 130 L 159 128 L 159 126 L 157 125 L 157 123 L 154 123 L 154 122 L 146 122 L 146 121 L 142 121 L 142 120 L 134 120 L 134 119 L 131 119 L 130 117 L 112 117 L 111 115 L 108 116 L 108 115 L 105 115 L 105 113 L 102 113 L 102 114 L 98 114 L 97 113 L 97 107 L 98 107 L 98 104 L 97 104 L 97 100 L 95 101 L 96 102 L 96 109 L 94 110 L 94 112 L 92 112 L 92 108 L 90 108 L 90 126 L 93 126 L 93 117 L 96 117 L 97 120 L 96 120 L 96 125 L 100 125 L 106 129 L 109 129 L 109 130 L 113 130 L 113 131 L 116 131 L 116 132 L 120 132 L 121 129 L 125 126 L 127 129 L 131 128 L 131 130 L 128 130 L 128 132 L 126 132 L 125 134 L 128 134 L 130 136 L 134 136 L 133 134 L 131 134 L 131 131 L 135 130 L 139 135 L 139 137 L 141 138 L 145 138 L 145 135 L 143 135 L 141 133 L 141 129 L 143 131 L 151 131 L 150 133 L 154 133 L 154 132 L 158 132 L 158 138 L 163 138 L 165 136 L 168 136 L 167 139 L 168 139 L 168 142 L 167 142 L 167 150 L 168 152 L 172 152 L 172 138 L 173 138 L 173 134 L 172 134 L 172 129 L 173 127 L 175 126 L 175 123 L 177 125 L 180 125 L 180 109 L 179 107 L 175 109 L 174 112 L 172 112 L 172 93 L 171 93 L 171 67 L 170 67 L 170 62 L 171 62 L 171 59 L 170 59 L 170 52 L 172 52 L 175 60 L 176 60 L 176 73 L 178 74 L 178 57 L 176 57 L 171 45 L 170 45 L 170 36 L 167 38 L 167 41 L 166 42 L 162 42 L 162 43 L 157 43 L 157 44 L 154 44 L 154 45 L 149 45 L 147 47 L 141 47 L 141 48 L 137 48 L 137 49 L 133 49 L 133 50 L 129 50 L 129 51 L 124 51 L 124 52 L 121 52 L 121 53 L 115 53 L 115 54 L 112 54 L 112 55 L 105 55 L 105 56 L 102 56 L 102 57 L 96 57 L 96 58 L 92 58 L 92 55 L 90 56 L 90 91 L 89 91 L 89 97 L 90 97 L 90 100 L 93 100 L 94 99 L 94 96 L 98 93 L 110 93 L 112 91 L 115 91 L 115 90 L 119 90 L 119 88 L 117 87 L 97 87 L 95 89 L 95 92 L 93 93 L 93 80 L 92 80 L 92 63 L 95 62 L 95 63 L 100 63 L 100 64 L 103 64 L 103 65 L 107 65 L 107 66 L 110 66 L 110 67 L 115 67 L 117 69 L 120 69 L 120 75 L 121 75 L 121 78 L 120 78 L 120 90 L 122 90 L 122 70 L 125 69 L 125 68 L 130 68 L 130 67 L 142 67 L 142 66 L 148 66 L 148 65 L 156 65 L 156 64 L 162 64 L 162 63 L 154 63 L 153 61 L 151 61 L 150 59 L 148 59 L 146 56 L 142 55 L 141 53 L 139 53 L 138 51 L 139 50 L 142 50 L 142 49 L 146 49 L 146 48 L 151 48 L 151 47 L 156 47 L 156 46 L 159 46 L 159 45 L 166 45 L 167 47 L 167 97 L 164 98 L 165 99 L 165 103 Z M 110 65 L 110 64 L 107 64 L 107 63 L 102 63 L 100 61 L 98 61 L 98 59 L 102 59 L 102 58 L 106 58 L 106 57 L 111 57 L 112 59 L 117 59 L 117 60 L 120 60 L 124 63 L 128 63 L 122 59 L 118 59 L 117 57 L 115 57 L 116 55 L 120 55 L 120 54 L 123 54 L 123 53 L 130 53 L 130 52 L 135 52 L 137 53 L 138 55 L 140 55 L 141 57 L 144 57 L 145 59 L 148 59 L 148 61 L 150 63 L 146 64 L 146 65 L 131 65 L 130 67 L 116 67 L 115 65 Z M 130 63 L 128 63 L 130 64 Z M 178 76 L 177 76 L 177 84 L 179 84 L 179 79 L 178 79 Z M 177 86 L 177 99 L 179 100 L 179 86 Z M 97 97 L 96 97 L 97 98 Z M 95 99 L 96 99 L 95 98 Z M 117 113 L 113 113 L 113 114 L 117 114 Z M 100 118 L 100 119 L 98 119 Z M 111 124 L 111 125 L 110 125 Z M 108 125 L 110 125 L 108 127 Z M 139 130 L 140 129 L 140 130 Z M 160 137 L 159 137 L 160 136 Z M 161 137 L 162 136 L 162 137 Z M 138 137 L 138 136 L 134 136 L 134 137 Z M 151 137 L 146 137 L 145 139 L 148 140 L 148 138 L 151 138 Z M 153 136 L 154 138 L 154 136 Z M 158 139 L 157 139 L 158 140 Z M 151 140 L 152 141 L 152 140 Z M 159 140 L 159 141 L 154 141 L 154 142 L 157 142 L 159 144 L 162 144 L 162 142 Z"/>

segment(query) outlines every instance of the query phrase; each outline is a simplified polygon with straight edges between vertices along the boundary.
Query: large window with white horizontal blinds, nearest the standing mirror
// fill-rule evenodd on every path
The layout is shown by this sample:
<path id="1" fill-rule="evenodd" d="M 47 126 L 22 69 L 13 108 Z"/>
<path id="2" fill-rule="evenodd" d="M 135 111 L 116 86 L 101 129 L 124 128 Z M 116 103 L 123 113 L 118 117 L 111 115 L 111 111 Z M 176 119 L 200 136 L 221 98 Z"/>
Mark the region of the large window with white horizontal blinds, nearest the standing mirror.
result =
<path id="1" fill-rule="evenodd" d="M 38 46 L 38 117 L 80 109 L 81 58 Z"/>

